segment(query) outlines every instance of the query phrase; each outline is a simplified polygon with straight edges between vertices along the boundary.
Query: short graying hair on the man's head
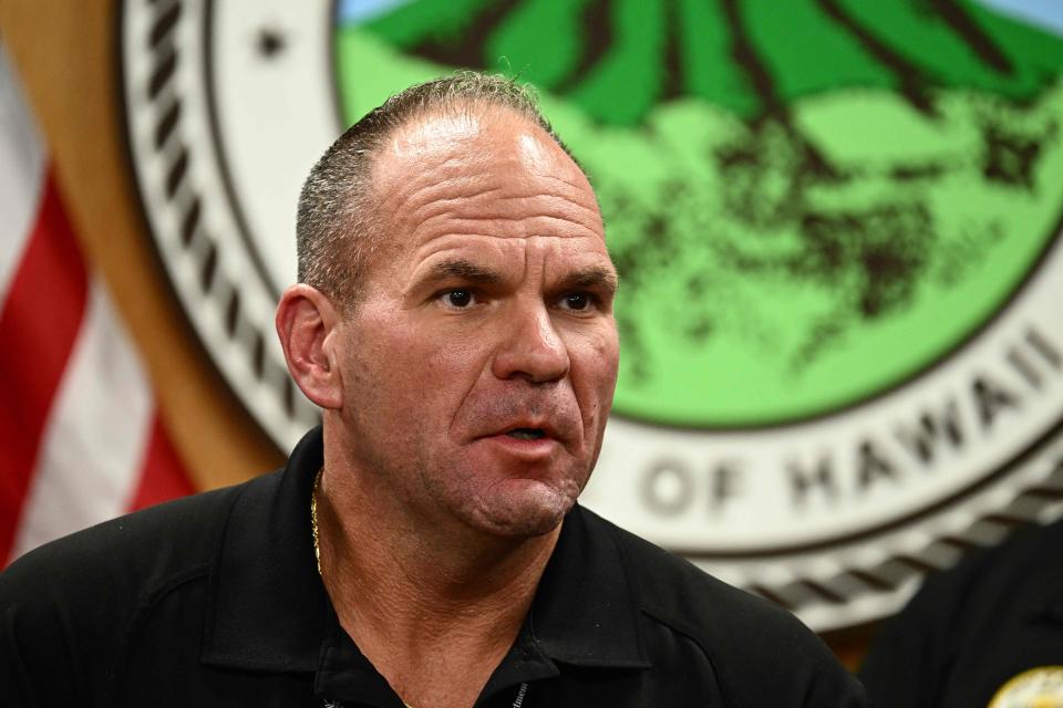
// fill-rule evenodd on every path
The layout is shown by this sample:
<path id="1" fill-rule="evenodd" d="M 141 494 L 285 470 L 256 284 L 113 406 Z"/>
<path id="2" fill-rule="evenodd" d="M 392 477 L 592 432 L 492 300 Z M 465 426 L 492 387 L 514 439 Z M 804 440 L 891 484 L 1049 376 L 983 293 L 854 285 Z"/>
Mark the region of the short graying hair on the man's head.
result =
<path id="1" fill-rule="evenodd" d="M 463 71 L 396 93 L 348 128 L 310 170 L 296 222 L 299 282 L 341 305 L 357 302 L 369 259 L 382 240 L 371 183 L 380 147 L 412 119 L 469 107 L 512 111 L 571 156 L 539 112 L 535 94 L 515 80 Z"/>

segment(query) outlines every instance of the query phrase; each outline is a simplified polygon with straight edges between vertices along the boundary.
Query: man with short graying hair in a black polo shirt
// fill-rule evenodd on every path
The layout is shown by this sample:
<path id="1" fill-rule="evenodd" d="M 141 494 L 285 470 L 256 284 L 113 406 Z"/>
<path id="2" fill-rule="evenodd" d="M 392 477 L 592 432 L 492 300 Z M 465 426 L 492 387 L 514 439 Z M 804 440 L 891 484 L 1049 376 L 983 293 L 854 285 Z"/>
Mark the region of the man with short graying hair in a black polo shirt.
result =
<path id="1" fill-rule="evenodd" d="M 299 207 L 285 470 L 0 576 L 3 705 L 858 706 L 791 615 L 576 504 L 617 376 L 587 177 L 503 79 L 414 86 Z"/>

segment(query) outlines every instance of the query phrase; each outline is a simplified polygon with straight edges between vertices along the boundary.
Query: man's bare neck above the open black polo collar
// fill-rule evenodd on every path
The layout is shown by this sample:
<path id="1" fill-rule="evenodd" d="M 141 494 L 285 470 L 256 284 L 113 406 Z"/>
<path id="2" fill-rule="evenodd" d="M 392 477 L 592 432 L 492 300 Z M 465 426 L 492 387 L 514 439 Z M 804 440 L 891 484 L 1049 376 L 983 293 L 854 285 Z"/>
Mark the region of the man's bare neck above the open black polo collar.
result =
<path id="1" fill-rule="evenodd" d="M 425 529 L 349 472 L 317 490 L 321 574 L 341 626 L 409 704 L 471 706 L 516 638 L 560 527 L 525 539 Z"/>

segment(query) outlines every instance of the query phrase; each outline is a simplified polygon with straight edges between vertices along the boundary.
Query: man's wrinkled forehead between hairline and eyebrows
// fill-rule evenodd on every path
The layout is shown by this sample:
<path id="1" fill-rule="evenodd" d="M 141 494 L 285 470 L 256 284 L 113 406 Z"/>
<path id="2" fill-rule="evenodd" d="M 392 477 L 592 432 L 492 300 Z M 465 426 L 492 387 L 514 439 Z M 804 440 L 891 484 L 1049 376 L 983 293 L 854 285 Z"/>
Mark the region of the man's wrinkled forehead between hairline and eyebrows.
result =
<path id="1" fill-rule="evenodd" d="M 398 128 L 380 153 L 374 189 L 393 258 L 406 251 L 423 263 L 534 236 L 582 237 L 565 250 L 607 253 L 582 171 L 541 127 L 506 108 L 442 112 Z"/>

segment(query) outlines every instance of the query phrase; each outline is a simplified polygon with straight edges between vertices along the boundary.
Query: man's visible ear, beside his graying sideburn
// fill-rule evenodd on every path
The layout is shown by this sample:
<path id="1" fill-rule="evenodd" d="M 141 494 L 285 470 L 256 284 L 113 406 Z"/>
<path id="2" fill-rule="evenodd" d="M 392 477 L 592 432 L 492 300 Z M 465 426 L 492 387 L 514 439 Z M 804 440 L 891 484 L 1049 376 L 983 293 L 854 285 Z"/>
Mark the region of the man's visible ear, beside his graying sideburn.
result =
<path id="1" fill-rule="evenodd" d="M 332 301 L 305 283 L 288 288 L 277 305 L 277 335 L 288 371 L 307 398 L 322 408 L 343 405 L 343 382 L 332 348 L 340 320 Z"/>

